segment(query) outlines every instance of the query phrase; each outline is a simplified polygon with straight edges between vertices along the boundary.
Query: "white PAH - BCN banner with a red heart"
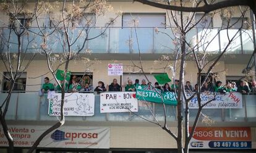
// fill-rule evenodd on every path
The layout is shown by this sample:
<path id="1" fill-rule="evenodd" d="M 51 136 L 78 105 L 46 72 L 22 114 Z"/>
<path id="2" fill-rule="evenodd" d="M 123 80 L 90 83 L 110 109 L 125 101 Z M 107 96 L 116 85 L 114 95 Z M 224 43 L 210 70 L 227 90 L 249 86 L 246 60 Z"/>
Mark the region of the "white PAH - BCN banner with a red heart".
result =
<path id="1" fill-rule="evenodd" d="M 100 112 L 137 112 L 136 92 L 107 92 L 100 94 Z"/>

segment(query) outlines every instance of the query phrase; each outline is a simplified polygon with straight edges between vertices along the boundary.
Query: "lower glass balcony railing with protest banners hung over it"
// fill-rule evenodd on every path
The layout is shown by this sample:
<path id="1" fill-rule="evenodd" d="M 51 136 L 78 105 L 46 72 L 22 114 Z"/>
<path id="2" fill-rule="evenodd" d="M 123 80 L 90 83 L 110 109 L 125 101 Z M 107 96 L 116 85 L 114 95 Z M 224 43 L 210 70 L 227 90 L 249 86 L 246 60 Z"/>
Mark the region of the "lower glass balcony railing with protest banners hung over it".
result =
<path id="1" fill-rule="evenodd" d="M 0 103 L 3 103 L 7 93 L 0 93 Z M 58 120 L 56 116 L 48 115 L 48 100 L 45 96 L 38 96 L 37 92 L 13 93 L 11 96 L 9 110 L 6 114 L 7 120 Z M 202 112 L 215 122 L 255 122 L 256 121 L 256 95 L 242 95 L 242 109 L 203 109 Z M 145 104 L 138 102 L 139 111 L 136 114 L 149 120 L 154 120 L 151 111 L 158 121 L 164 120 L 163 105 L 157 103 Z M 190 120 L 194 120 L 197 109 L 190 109 Z M 177 118 L 176 106 L 166 105 L 166 117 L 170 122 Z M 73 121 L 116 121 L 116 122 L 143 122 L 140 117 L 132 112 L 100 113 L 100 95 L 95 95 L 95 115 L 92 117 L 66 116 L 66 120 Z"/>

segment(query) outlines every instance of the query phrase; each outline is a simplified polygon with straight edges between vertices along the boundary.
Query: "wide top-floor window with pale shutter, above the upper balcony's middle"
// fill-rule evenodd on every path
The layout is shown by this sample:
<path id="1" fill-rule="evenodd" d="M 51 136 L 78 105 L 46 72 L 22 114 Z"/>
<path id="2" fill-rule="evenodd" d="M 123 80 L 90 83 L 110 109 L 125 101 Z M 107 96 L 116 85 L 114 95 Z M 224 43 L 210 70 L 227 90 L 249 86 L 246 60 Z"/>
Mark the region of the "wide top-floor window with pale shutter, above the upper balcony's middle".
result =
<path id="1" fill-rule="evenodd" d="M 122 15 L 122 27 L 133 27 L 132 20 L 137 21 L 137 27 L 144 28 L 164 28 L 165 14 L 140 14 L 140 13 L 125 13 Z"/>

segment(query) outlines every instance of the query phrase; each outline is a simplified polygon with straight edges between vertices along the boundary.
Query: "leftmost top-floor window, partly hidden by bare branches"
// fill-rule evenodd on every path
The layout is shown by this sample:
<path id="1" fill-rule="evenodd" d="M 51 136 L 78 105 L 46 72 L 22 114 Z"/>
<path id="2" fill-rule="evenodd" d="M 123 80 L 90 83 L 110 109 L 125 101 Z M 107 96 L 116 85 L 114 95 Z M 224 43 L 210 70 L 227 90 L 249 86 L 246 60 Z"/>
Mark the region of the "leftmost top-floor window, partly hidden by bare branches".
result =
<path id="1" fill-rule="evenodd" d="M 25 15 L 10 15 L 10 27 L 12 28 L 29 28 L 31 25 L 31 18 L 25 17 Z"/>

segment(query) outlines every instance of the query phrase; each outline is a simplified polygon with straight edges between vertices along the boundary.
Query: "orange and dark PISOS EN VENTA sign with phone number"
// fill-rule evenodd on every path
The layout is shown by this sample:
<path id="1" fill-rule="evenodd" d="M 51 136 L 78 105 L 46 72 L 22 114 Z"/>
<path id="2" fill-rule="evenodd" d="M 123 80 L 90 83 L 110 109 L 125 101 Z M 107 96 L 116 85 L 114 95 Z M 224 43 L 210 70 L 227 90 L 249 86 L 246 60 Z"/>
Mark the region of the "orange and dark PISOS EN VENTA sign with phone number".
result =
<path id="1" fill-rule="evenodd" d="M 250 128 L 197 127 L 190 141 L 190 148 L 249 149 L 252 148 Z"/>

